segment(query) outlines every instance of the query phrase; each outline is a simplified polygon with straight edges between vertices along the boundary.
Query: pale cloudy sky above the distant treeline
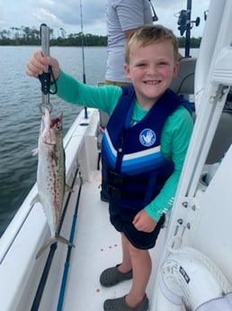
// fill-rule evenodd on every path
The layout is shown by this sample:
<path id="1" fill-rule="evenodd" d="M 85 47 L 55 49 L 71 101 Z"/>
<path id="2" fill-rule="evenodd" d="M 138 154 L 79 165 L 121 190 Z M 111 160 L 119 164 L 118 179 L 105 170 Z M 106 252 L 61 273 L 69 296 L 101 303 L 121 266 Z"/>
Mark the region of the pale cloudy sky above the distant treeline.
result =
<path id="1" fill-rule="evenodd" d="M 28 26 L 40 28 L 40 23 L 47 23 L 55 32 L 65 29 L 67 34 L 81 31 L 80 2 L 82 2 L 83 31 L 106 35 L 105 2 L 106 0 L 0 0 L 0 31 L 11 27 Z M 178 18 L 174 16 L 186 9 L 186 0 L 152 0 L 158 22 L 177 30 Z M 210 0 L 192 0 L 192 20 L 201 17 L 199 27 L 193 27 L 192 36 L 202 35 L 203 14 L 209 8 Z"/>

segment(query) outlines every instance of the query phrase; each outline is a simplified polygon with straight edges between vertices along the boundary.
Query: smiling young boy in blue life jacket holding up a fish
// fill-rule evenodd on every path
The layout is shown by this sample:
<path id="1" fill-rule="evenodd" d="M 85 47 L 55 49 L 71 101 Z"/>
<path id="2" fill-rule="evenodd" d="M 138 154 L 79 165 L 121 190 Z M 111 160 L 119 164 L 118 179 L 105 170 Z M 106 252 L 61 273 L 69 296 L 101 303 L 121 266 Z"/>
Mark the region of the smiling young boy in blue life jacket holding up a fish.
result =
<path id="1" fill-rule="evenodd" d="M 125 51 L 125 75 L 132 87 L 87 86 L 59 69 L 57 59 L 32 56 L 27 74 L 38 77 L 51 66 L 58 96 L 111 114 L 103 136 L 103 187 L 110 219 L 121 233 L 122 262 L 104 270 L 105 287 L 132 279 L 128 295 L 104 302 L 105 311 L 146 311 L 151 274 L 148 250 L 172 207 L 192 134 L 184 100 L 168 87 L 178 72 L 178 44 L 161 25 L 138 28 Z"/>

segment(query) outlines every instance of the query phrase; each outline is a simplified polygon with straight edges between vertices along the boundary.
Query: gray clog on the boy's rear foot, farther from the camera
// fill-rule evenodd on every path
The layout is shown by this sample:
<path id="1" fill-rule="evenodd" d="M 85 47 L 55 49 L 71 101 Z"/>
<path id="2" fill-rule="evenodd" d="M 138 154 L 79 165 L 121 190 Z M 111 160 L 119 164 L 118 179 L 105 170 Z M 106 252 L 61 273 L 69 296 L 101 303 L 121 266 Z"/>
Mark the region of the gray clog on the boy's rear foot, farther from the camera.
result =
<path id="1" fill-rule="evenodd" d="M 119 284 L 123 280 L 132 279 L 132 270 L 127 273 L 122 273 L 120 270 L 118 270 L 119 266 L 120 264 L 118 264 L 116 267 L 103 270 L 103 273 L 100 276 L 100 283 L 103 287 L 109 288 Z"/>

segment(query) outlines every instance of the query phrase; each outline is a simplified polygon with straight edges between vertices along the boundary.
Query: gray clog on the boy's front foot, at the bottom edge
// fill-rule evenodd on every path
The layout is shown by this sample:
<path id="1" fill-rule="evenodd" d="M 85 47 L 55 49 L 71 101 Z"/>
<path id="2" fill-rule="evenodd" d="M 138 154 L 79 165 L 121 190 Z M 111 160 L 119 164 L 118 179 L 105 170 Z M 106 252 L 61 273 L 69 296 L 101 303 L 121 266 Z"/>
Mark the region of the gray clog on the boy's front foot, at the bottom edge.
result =
<path id="1" fill-rule="evenodd" d="M 143 298 L 140 304 L 136 307 L 129 307 L 126 303 L 126 296 L 107 299 L 103 305 L 104 311 L 147 311 L 148 310 L 148 299 L 147 295 Z"/>

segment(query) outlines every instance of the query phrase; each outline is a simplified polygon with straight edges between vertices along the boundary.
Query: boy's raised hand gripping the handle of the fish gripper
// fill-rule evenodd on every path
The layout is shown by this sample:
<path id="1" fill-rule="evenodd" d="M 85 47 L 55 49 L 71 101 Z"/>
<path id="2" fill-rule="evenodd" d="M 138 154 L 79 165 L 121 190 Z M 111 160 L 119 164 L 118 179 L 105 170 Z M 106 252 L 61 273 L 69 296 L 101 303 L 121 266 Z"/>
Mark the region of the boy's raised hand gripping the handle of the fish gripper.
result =
<path id="1" fill-rule="evenodd" d="M 58 60 L 49 56 L 43 57 L 42 52 L 37 50 L 27 63 L 26 73 L 30 77 L 38 78 L 43 72 L 48 72 L 49 66 L 52 68 L 54 78 L 57 79 L 59 76 Z"/>

